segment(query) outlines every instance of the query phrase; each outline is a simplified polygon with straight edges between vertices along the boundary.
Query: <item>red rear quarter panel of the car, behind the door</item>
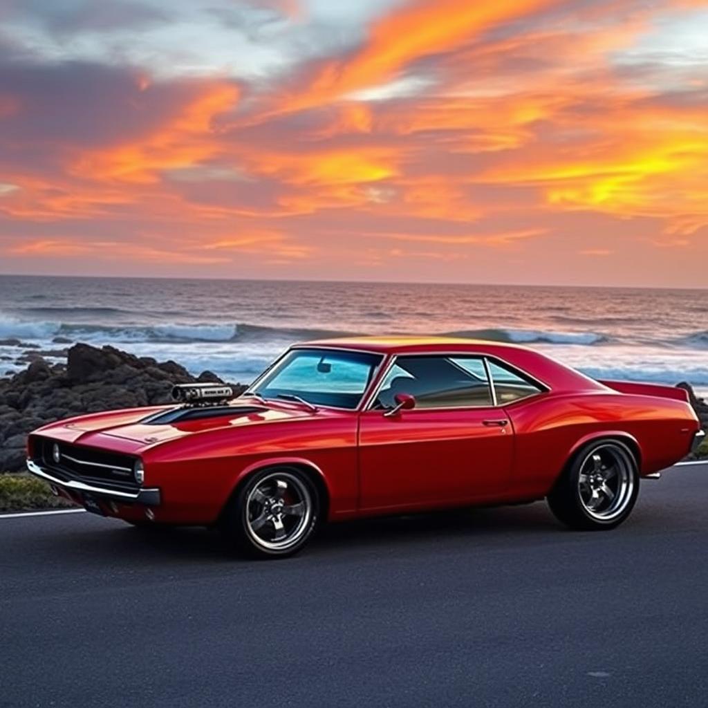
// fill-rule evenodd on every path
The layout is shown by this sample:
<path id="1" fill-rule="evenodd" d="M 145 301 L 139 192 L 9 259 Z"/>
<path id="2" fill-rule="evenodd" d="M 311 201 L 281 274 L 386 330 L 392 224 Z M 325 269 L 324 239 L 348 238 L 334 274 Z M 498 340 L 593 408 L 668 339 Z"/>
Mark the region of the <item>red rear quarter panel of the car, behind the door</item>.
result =
<path id="1" fill-rule="evenodd" d="M 644 476 L 685 457 L 698 429 L 683 401 L 611 392 L 549 394 L 506 411 L 515 432 L 513 484 L 524 496 L 547 494 L 574 452 L 595 438 L 638 447 Z"/>

